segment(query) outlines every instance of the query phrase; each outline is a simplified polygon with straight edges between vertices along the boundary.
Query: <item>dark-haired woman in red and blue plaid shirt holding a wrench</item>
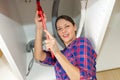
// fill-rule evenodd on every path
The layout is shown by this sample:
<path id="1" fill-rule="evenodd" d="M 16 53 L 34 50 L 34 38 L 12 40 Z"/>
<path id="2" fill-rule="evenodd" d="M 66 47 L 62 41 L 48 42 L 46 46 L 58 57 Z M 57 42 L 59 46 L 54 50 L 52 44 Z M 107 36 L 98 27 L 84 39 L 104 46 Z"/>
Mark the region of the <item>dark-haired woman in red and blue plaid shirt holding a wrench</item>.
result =
<path id="1" fill-rule="evenodd" d="M 46 16 L 44 15 L 46 21 Z M 74 21 L 66 15 L 59 16 L 56 20 L 56 30 L 65 44 L 65 49 L 60 51 L 55 38 L 47 31 L 49 36 L 45 40 L 48 51 L 42 49 L 42 23 L 41 18 L 35 17 L 36 39 L 35 59 L 48 65 L 53 65 L 56 80 L 96 80 L 96 53 L 86 38 L 76 38 L 77 27 Z M 55 58 L 51 57 L 54 53 Z"/>

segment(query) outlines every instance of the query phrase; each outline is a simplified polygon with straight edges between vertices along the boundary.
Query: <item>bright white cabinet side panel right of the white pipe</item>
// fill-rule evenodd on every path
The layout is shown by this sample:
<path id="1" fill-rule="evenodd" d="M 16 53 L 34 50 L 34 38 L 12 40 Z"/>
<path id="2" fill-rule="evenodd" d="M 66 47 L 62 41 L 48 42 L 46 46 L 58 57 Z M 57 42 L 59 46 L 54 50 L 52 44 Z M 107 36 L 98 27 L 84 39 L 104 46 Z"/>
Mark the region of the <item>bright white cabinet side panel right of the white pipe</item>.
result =
<path id="1" fill-rule="evenodd" d="M 115 0 L 88 0 L 85 35 L 99 52 Z"/>

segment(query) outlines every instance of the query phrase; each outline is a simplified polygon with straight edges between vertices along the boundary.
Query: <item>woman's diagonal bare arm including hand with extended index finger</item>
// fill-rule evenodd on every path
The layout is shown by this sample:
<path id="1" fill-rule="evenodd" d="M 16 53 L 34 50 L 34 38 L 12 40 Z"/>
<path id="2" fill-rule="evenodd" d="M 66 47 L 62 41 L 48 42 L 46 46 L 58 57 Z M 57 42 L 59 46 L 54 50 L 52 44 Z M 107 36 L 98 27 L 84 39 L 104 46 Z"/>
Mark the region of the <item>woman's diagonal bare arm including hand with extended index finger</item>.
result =
<path id="1" fill-rule="evenodd" d="M 54 56 L 58 60 L 58 62 L 61 64 L 63 69 L 66 71 L 68 77 L 70 80 L 80 80 L 80 70 L 79 68 L 72 65 L 68 59 L 60 52 L 58 49 L 58 46 L 56 44 L 56 40 L 50 35 L 48 31 L 45 31 L 46 34 L 49 36 L 49 40 L 46 40 L 46 48 L 51 49 L 51 51 L 54 53 Z"/>

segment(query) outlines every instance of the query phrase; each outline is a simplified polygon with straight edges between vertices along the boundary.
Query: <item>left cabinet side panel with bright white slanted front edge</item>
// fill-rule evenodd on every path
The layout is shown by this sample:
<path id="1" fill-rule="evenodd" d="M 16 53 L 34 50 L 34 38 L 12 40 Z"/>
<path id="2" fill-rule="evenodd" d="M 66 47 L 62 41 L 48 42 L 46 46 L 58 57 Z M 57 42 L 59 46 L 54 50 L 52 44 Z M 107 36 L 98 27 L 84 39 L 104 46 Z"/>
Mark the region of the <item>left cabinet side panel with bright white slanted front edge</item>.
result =
<path id="1" fill-rule="evenodd" d="M 0 14 L 0 49 L 19 80 L 26 76 L 25 39 L 23 27 Z"/>

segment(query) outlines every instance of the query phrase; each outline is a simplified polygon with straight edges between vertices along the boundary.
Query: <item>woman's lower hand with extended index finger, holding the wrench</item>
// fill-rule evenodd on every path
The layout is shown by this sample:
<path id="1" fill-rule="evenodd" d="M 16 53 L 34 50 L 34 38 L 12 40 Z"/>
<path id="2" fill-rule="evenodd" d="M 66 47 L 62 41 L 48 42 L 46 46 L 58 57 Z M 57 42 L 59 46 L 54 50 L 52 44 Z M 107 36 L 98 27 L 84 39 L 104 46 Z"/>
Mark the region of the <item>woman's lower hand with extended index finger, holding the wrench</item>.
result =
<path id="1" fill-rule="evenodd" d="M 46 48 L 51 50 L 54 55 L 57 54 L 60 50 L 57 46 L 55 38 L 47 30 L 44 30 L 44 32 L 49 37 L 49 39 L 45 40 Z"/>

